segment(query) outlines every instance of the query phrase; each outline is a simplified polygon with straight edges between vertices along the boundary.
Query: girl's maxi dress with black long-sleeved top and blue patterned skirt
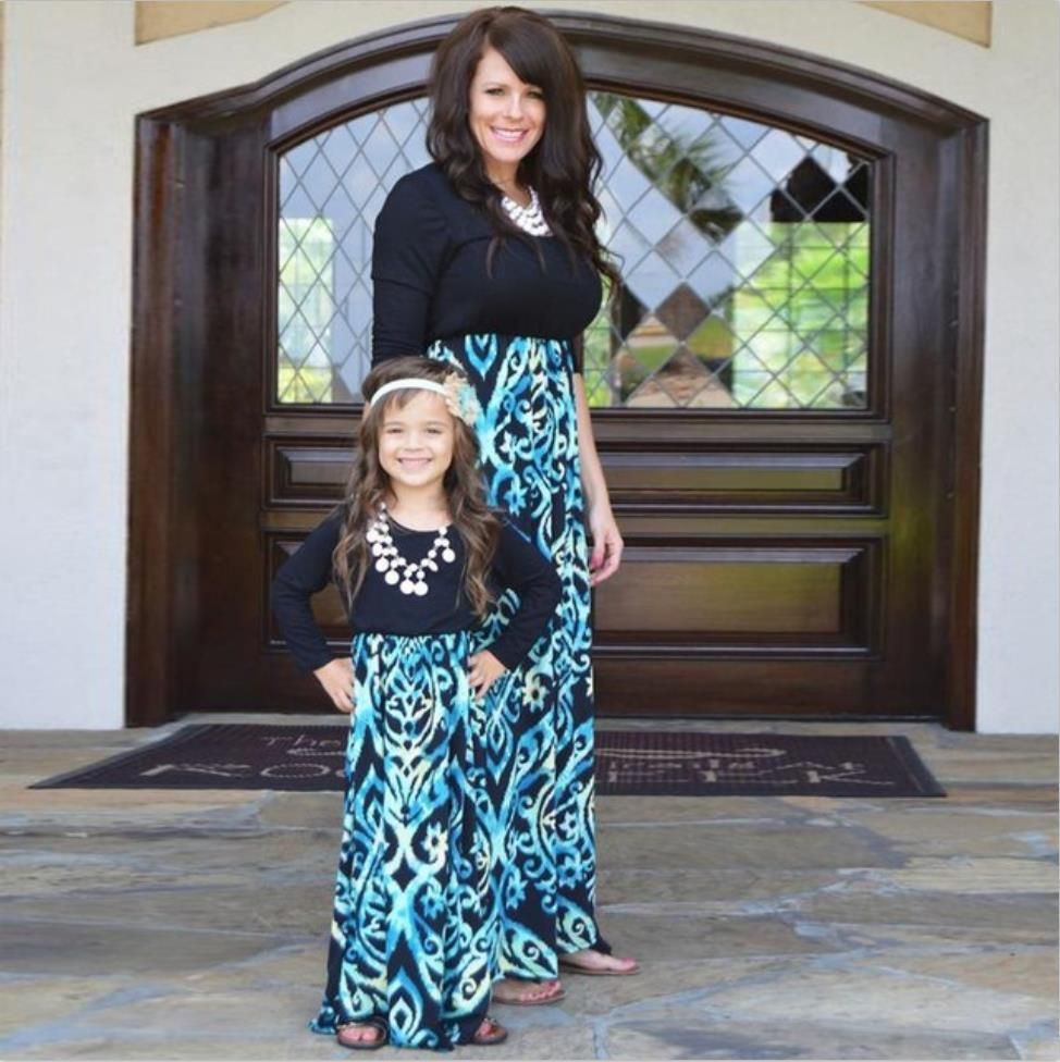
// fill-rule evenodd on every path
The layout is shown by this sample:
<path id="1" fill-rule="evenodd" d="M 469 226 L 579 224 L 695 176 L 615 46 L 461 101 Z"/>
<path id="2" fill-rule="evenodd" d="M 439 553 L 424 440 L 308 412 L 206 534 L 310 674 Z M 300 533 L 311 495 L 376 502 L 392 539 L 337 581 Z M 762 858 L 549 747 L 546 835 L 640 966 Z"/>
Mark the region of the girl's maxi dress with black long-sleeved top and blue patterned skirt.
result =
<path id="1" fill-rule="evenodd" d="M 273 607 L 298 664 L 331 659 L 309 598 L 331 580 L 341 514 L 332 514 L 276 573 Z M 392 523 L 408 560 L 435 532 Z M 469 627 L 459 596 L 464 549 L 407 597 L 369 569 L 350 613 L 355 706 L 328 981 L 311 1028 L 386 1022 L 396 1046 L 469 1042 L 485 1016 L 498 918 L 486 777 L 486 704 L 471 695 Z M 514 589 L 518 616 L 490 649 L 517 667 L 559 600 L 541 553 L 505 527 L 493 584 Z"/>

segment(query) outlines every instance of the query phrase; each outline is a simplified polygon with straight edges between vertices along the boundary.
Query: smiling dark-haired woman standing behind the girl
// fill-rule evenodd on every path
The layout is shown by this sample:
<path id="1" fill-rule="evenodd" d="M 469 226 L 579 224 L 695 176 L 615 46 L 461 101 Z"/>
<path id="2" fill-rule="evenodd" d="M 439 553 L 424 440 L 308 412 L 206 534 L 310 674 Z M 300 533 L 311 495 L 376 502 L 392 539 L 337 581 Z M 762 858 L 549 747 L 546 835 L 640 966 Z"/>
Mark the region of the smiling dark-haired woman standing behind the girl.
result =
<path id="1" fill-rule="evenodd" d="M 558 966 L 637 972 L 593 912 L 590 586 L 615 573 L 623 540 L 571 346 L 600 307 L 601 274 L 617 275 L 593 231 L 600 157 L 584 87 L 551 23 L 473 12 L 435 53 L 431 91 L 434 162 L 397 182 L 375 223 L 373 363 L 426 350 L 467 374 L 491 501 L 564 584 L 547 635 L 491 694 L 494 999 L 537 1005 L 563 997 Z M 497 603 L 483 644 L 513 610 Z"/>

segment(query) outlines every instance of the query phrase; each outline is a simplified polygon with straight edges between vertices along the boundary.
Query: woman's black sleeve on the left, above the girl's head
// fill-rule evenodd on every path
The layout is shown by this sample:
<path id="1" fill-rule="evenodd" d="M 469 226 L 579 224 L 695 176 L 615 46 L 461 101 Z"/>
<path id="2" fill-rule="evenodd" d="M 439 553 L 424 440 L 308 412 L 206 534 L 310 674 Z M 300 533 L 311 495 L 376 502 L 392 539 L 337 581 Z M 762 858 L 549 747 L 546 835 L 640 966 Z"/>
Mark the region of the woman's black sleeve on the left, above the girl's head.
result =
<path id="1" fill-rule="evenodd" d="M 448 226 L 421 174 L 403 177 L 375 219 L 372 365 L 427 347 L 431 302 L 449 246 Z"/>

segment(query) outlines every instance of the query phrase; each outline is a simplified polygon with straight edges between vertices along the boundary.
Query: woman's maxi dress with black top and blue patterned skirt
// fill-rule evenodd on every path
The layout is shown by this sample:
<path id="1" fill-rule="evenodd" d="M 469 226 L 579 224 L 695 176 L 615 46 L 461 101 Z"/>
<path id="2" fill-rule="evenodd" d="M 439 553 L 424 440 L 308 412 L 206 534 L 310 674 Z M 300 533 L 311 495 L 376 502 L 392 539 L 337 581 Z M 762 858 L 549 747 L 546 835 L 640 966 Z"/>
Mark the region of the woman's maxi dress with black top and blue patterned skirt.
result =
<path id="1" fill-rule="evenodd" d="M 528 660 L 495 684 L 486 760 L 501 947 L 494 976 L 555 977 L 557 956 L 608 951 L 594 915 L 590 583 L 571 341 L 600 307 L 588 261 L 555 237 L 506 237 L 428 165 L 375 223 L 373 362 L 423 354 L 478 393 L 491 501 L 555 564 L 563 596 Z M 489 640 L 513 602 L 498 603 Z"/>

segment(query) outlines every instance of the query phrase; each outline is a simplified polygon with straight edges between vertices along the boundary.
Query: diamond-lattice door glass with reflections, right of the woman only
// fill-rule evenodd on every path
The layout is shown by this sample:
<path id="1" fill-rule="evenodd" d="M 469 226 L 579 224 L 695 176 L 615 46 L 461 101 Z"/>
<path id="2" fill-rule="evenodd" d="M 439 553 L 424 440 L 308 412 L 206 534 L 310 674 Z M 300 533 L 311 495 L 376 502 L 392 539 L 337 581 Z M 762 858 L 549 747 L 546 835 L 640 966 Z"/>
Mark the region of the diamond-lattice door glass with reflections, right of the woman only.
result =
<path id="1" fill-rule="evenodd" d="M 590 404 L 866 404 L 868 163 L 697 108 L 591 95 L 623 291 L 586 334 Z"/>

